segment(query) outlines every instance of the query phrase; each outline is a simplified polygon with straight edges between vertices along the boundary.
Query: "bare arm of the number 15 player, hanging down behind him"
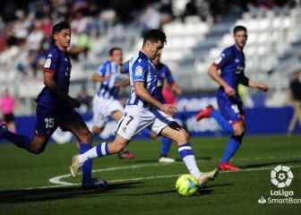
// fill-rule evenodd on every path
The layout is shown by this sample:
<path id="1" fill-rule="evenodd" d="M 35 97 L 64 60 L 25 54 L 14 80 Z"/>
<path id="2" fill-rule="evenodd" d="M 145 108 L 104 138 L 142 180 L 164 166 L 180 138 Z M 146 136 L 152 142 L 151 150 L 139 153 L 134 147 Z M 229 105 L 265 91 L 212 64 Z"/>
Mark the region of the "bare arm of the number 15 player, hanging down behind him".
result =
<path id="1" fill-rule="evenodd" d="M 77 99 L 73 99 L 62 90 L 59 90 L 54 80 L 55 73 L 44 73 L 44 84 L 51 90 L 52 93 L 60 99 L 65 100 L 71 107 L 80 107 L 81 102 Z"/>

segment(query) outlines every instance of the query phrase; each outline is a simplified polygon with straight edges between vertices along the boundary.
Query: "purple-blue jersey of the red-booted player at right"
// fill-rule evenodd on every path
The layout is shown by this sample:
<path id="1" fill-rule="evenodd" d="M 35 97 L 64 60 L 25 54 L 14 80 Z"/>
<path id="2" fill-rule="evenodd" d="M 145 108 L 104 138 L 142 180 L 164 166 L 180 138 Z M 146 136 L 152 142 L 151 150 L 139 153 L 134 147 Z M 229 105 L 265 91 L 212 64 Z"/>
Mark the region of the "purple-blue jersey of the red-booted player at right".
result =
<path id="1" fill-rule="evenodd" d="M 220 69 L 221 78 L 234 90 L 237 90 L 239 83 L 247 85 L 245 55 L 236 45 L 225 48 L 214 64 Z"/>

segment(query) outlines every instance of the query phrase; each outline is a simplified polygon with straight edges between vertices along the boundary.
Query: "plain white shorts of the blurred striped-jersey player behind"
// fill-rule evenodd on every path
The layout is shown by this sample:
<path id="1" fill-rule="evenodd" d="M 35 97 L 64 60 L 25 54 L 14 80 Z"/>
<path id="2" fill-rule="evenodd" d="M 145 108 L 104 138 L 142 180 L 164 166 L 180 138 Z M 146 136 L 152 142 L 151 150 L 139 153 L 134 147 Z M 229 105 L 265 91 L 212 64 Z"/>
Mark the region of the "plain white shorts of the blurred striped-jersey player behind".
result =
<path id="1" fill-rule="evenodd" d="M 117 99 L 103 99 L 95 96 L 93 99 L 93 125 L 101 128 L 106 125 L 113 112 L 124 111 L 124 107 Z"/>

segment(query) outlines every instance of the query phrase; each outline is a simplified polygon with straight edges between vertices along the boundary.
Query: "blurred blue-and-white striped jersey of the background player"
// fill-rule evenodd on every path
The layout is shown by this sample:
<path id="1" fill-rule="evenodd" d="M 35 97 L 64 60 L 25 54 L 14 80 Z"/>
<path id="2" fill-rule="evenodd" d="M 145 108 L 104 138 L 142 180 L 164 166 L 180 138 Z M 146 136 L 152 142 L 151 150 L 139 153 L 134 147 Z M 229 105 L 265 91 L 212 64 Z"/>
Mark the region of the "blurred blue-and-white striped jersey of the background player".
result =
<path id="1" fill-rule="evenodd" d="M 109 79 L 100 83 L 97 95 L 104 99 L 118 99 L 120 88 L 116 87 L 115 83 L 120 82 L 124 76 L 120 73 L 120 65 L 111 61 L 106 61 L 99 66 L 97 73 L 101 76 L 110 76 Z"/>

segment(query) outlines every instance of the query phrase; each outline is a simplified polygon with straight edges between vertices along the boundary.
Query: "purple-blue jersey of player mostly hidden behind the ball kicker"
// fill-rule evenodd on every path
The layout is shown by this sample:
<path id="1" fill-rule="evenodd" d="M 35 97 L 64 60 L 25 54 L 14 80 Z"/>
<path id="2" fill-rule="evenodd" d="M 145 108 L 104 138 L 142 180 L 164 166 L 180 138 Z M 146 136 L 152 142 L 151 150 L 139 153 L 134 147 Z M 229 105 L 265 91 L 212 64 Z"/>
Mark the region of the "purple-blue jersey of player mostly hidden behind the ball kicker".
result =
<path id="1" fill-rule="evenodd" d="M 158 77 L 158 82 L 157 82 L 157 98 L 160 102 L 165 102 L 165 99 L 162 95 L 163 87 L 164 87 L 164 82 L 165 80 L 168 82 L 168 84 L 172 84 L 174 81 L 174 78 L 166 64 L 161 64 L 159 63 L 156 66 L 157 69 L 157 77 Z"/>

